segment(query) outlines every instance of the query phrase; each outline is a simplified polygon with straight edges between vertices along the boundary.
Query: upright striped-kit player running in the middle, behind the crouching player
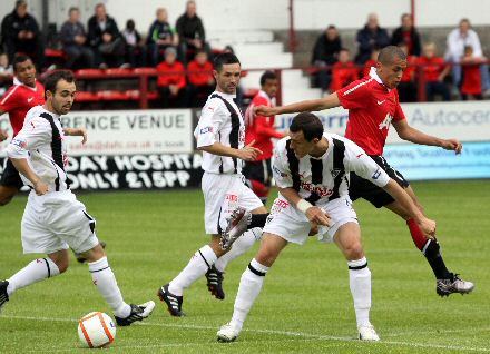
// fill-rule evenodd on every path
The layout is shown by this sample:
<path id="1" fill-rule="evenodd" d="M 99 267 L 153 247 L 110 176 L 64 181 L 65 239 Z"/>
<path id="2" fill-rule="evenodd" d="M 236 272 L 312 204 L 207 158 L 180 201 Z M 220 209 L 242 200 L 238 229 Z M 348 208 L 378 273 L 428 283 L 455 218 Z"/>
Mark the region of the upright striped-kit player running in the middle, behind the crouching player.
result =
<path id="1" fill-rule="evenodd" d="M 235 55 L 222 53 L 215 58 L 213 75 L 216 90 L 203 107 L 194 131 L 197 148 L 203 151 L 204 222 L 210 243 L 199 248 L 187 266 L 158 289 L 158 297 L 166 303 L 173 316 L 184 315 L 184 289 L 204 275 L 212 295 L 218 299 L 225 298 L 222 283 L 227 263 L 259 239 L 262 233 L 255 226 L 262 227 L 267 217 L 267 209 L 244 184 L 242 175 L 243 161 L 255 160 L 262 151 L 253 146 L 254 141 L 245 145 L 244 120 L 234 100 L 241 72 L 241 63 Z M 237 208 L 251 213 L 251 229 L 236 242 L 233 239 L 233 245 L 232 242 L 220 243 L 226 220 Z"/>

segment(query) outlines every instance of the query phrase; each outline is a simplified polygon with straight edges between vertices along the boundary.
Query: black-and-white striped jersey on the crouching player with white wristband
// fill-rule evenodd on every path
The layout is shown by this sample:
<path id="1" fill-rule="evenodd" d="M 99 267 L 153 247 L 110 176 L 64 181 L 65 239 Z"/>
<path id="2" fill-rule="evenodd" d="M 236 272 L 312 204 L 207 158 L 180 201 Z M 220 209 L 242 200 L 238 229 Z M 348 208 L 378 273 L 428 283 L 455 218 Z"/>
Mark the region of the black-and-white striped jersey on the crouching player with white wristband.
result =
<path id="1" fill-rule="evenodd" d="M 326 153 L 315 158 L 306 155 L 298 159 L 290 147 L 290 137 L 281 139 L 274 150 L 273 174 L 280 188 L 294 188 L 314 205 L 349 195 L 351 171 L 384 187 L 390 177 L 362 148 L 339 135 L 325 132 Z"/>

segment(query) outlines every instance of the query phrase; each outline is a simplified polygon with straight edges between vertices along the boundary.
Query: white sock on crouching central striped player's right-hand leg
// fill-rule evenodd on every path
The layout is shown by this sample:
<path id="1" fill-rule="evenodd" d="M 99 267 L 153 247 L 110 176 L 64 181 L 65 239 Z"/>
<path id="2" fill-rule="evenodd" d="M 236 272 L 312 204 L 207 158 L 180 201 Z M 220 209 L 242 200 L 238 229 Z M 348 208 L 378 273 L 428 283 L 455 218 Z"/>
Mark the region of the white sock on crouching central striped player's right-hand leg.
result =
<path id="1" fill-rule="evenodd" d="M 371 309 L 371 271 L 367 259 L 349 260 L 349 283 L 354 299 L 357 326 L 370 324 Z"/>

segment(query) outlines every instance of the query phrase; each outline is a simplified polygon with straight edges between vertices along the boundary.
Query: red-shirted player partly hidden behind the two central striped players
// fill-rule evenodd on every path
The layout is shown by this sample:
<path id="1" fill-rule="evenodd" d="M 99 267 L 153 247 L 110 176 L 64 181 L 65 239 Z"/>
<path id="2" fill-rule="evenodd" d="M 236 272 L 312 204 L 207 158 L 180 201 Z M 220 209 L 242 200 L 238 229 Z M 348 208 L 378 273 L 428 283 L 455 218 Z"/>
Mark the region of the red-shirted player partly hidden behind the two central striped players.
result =
<path id="1" fill-rule="evenodd" d="M 277 76 L 267 70 L 261 76 L 261 90 L 252 99 L 245 112 L 245 145 L 255 141 L 255 147 L 262 150 L 254 161 L 245 161 L 243 175 L 247 185 L 261 198 L 264 205 L 267 203 L 271 189 L 272 169 L 271 159 L 274 148 L 272 139 L 282 139 L 284 134 L 274 129 L 275 117 L 256 115 L 254 107 L 265 105 L 273 107 L 272 100 L 277 94 Z"/>

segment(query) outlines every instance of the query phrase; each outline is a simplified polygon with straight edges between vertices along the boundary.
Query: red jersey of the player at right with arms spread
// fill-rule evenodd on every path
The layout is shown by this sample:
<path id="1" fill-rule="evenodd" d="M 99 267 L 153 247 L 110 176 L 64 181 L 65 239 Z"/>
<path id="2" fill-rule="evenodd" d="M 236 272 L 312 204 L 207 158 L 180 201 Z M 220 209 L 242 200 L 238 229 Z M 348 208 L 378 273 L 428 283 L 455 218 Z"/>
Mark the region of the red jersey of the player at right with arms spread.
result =
<path id="1" fill-rule="evenodd" d="M 367 155 L 382 155 L 391 121 L 405 119 L 396 89 L 388 89 L 373 68 L 369 77 L 336 94 L 342 107 L 349 109 L 345 137 Z"/>

